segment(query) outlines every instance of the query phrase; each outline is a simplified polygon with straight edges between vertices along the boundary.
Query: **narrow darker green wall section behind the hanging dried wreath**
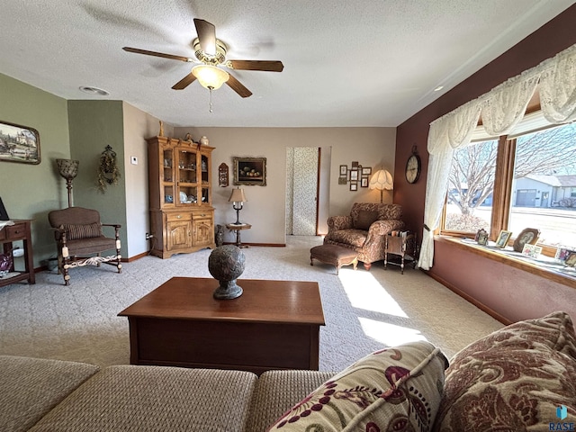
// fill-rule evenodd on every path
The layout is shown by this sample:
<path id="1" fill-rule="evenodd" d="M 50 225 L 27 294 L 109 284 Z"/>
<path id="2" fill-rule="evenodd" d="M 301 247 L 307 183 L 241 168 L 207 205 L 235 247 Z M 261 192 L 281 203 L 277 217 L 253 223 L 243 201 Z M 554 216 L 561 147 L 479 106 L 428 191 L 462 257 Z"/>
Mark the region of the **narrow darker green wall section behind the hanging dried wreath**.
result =
<path id="1" fill-rule="evenodd" d="M 126 187 L 124 166 L 124 125 L 121 101 L 68 101 L 70 156 L 80 161 L 74 180 L 74 205 L 100 211 L 103 223 L 119 223 L 121 255 L 128 257 L 126 238 Z M 97 187 L 98 164 L 106 146 L 116 152 L 121 177 L 104 193 Z M 104 228 L 104 234 L 113 230 Z"/>

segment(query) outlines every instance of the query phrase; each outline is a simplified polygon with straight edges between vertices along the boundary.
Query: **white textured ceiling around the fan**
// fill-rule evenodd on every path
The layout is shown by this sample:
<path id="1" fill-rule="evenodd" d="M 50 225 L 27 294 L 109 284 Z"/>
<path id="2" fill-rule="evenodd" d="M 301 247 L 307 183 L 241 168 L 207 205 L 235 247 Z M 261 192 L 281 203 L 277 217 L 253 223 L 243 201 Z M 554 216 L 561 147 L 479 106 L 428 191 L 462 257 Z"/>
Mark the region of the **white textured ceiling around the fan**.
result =
<path id="1" fill-rule="evenodd" d="M 65 99 L 100 87 L 175 126 L 397 126 L 536 31 L 573 0 L 3 0 L 0 73 Z M 197 82 L 193 18 L 216 26 L 229 59 L 282 60 L 282 73 L 233 71 L 253 93 Z M 434 92 L 438 85 L 444 89 Z"/>

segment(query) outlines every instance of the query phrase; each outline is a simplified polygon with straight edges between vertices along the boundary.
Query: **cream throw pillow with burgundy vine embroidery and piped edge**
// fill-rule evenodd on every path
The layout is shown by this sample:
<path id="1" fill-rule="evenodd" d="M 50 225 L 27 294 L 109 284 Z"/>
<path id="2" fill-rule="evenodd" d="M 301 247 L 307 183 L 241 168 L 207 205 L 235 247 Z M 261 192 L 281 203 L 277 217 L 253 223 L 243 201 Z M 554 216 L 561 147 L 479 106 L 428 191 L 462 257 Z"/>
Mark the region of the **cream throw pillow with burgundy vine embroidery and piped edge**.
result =
<path id="1" fill-rule="evenodd" d="M 424 341 L 365 356 L 312 392 L 269 431 L 428 431 L 446 357 Z"/>

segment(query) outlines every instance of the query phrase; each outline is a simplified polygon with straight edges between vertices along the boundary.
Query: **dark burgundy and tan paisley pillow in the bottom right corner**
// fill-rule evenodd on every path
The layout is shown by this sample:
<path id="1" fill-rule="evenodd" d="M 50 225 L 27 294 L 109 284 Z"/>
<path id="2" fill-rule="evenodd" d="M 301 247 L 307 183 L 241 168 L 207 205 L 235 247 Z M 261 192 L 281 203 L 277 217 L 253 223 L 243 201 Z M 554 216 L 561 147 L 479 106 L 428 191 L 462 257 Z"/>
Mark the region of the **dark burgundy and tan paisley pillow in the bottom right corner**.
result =
<path id="1" fill-rule="evenodd" d="M 434 430 L 570 430 L 562 425 L 576 424 L 575 377 L 570 317 L 519 321 L 454 356 Z M 564 419 L 556 416 L 562 406 Z"/>

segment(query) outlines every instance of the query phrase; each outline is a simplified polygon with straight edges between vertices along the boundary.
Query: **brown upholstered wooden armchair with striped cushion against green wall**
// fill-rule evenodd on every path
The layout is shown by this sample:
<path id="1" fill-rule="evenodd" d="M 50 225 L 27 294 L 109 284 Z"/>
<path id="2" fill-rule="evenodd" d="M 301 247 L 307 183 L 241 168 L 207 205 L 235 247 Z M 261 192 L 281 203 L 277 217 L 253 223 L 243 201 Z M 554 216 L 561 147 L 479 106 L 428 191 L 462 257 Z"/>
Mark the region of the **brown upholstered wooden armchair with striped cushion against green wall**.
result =
<path id="1" fill-rule="evenodd" d="M 64 275 L 64 284 L 70 284 L 68 270 L 80 266 L 116 266 L 121 273 L 120 225 L 100 222 L 100 213 L 82 207 L 68 207 L 48 213 L 50 226 L 58 247 L 58 273 Z M 114 238 L 104 237 L 102 227 L 113 227 Z M 106 250 L 116 254 L 102 257 Z"/>

